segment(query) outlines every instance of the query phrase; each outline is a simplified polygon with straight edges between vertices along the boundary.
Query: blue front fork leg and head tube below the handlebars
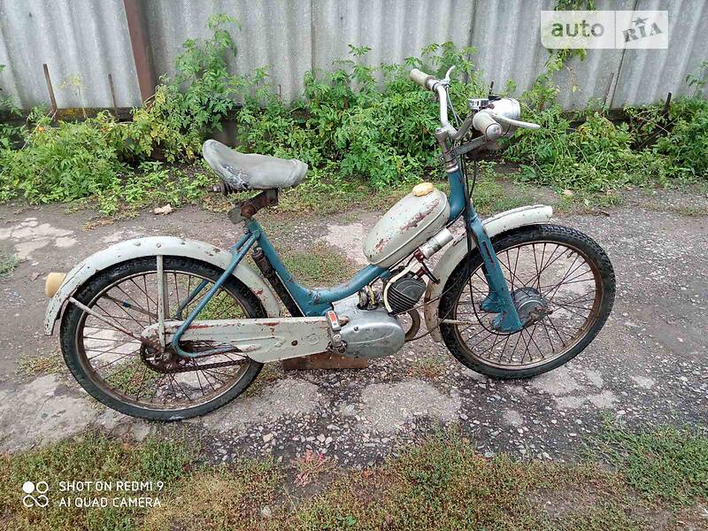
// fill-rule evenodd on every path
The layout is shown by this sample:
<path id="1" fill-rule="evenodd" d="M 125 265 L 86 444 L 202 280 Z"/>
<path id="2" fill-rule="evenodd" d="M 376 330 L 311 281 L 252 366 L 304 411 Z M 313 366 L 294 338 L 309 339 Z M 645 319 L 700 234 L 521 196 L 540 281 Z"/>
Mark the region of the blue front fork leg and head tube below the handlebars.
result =
<path id="1" fill-rule="evenodd" d="M 496 252 L 489 240 L 489 235 L 481 222 L 471 199 L 465 196 L 465 185 L 463 183 L 462 172 L 458 169 L 448 174 L 450 181 L 450 222 L 458 218 L 465 210 L 465 202 L 469 201 L 469 219 L 466 219 L 467 230 L 472 233 L 474 243 L 480 250 L 481 258 L 484 262 L 482 273 L 489 285 L 489 295 L 481 302 L 481 309 L 484 312 L 494 312 L 498 315 L 494 318 L 492 326 L 499 332 L 512 334 L 521 328 L 519 312 L 512 301 L 512 294 L 506 285 L 502 267 L 496 258 Z"/>

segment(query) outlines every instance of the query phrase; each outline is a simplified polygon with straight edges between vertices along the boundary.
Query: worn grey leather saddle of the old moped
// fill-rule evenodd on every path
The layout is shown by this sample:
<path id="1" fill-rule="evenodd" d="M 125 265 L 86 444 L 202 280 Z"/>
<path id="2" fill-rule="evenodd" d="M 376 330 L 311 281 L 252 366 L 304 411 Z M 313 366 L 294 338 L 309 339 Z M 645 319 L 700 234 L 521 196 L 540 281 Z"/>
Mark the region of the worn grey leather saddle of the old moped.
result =
<path id="1" fill-rule="evenodd" d="M 239 153 L 216 140 L 204 142 L 202 156 L 234 191 L 291 188 L 307 173 L 307 165 L 295 158 Z"/>

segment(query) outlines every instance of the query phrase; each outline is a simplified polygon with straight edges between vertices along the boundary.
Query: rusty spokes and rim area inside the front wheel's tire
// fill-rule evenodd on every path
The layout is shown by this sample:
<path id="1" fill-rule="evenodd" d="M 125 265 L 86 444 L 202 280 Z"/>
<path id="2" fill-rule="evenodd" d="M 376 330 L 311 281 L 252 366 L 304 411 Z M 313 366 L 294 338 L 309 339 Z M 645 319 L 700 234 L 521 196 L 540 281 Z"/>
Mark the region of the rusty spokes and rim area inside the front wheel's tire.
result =
<path id="1" fill-rule="evenodd" d="M 483 365 L 520 370 L 564 356 L 597 319 L 598 296 L 602 293 L 596 266 L 582 249 L 552 239 L 496 249 L 512 293 L 535 289 L 552 316 L 544 315 L 514 334 L 497 332 L 492 328 L 496 314 L 479 310 L 489 287 L 483 266 L 477 266 L 467 276 L 467 288 L 458 292 L 450 319 L 441 319 L 442 326 L 452 327 L 466 356 L 481 360 Z M 479 330 L 466 334 L 476 325 Z"/>

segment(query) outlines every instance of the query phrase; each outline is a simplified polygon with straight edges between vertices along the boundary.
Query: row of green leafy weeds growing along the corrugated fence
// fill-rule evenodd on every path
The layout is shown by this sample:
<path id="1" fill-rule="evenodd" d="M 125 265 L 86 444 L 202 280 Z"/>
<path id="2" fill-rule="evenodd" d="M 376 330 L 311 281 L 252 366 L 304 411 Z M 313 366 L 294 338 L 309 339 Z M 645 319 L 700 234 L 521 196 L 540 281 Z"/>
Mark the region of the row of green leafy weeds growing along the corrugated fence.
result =
<path id="1" fill-rule="evenodd" d="M 594 3 L 558 0 L 556 8 L 594 9 Z M 160 162 L 193 161 L 204 139 L 234 119 L 238 150 L 303 160 L 310 169 L 295 193 L 339 204 L 333 198 L 343 190 L 366 193 L 371 187 L 381 193 L 439 172 L 433 135 L 437 102 L 408 79 L 412 67 L 443 77 L 455 65 L 450 99 L 459 112 L 467 98 L 488 91 L 471 47 L 433 43 L 404 64 L 374 65 L 370 48 L 350 45 L 348 57 L 333 69 L 305 73 L 304 93 L 287 104 L 273 91 L 265 67 L 230 72 L 237 51 L 231 34 L 238 27 L 235 19 L 216 15 L 208 27 L 210 37 L 184 43 L 174 76 L 163 78 L 130 122 L 119 123 L 104 112 L 52 127 L 45 113 L 34 111 L 27 127 L 0 124 L 0 200 L 91 196 L 106 214 L 195 202 L 212 183 L 211 173 L 189 175 Z M 628 124 L 612 122 L 602 107 L 572 115 L 562 111 L 555 74 L 584 53 L 551 52 L 543 73 L 519 96 L 524 118 L 543 126 L 519 130 L 503 154 L 521 166 L 519 179 L 605 193 L 626 185 L 705 178 L 708 107 L 700 97 L 674 101 L 668 117 L 658 105 L 627 109 Z M 687 78 L 696 95 L 704 87 L 704 68 Z M 67 78 L 63 85 L 80 88 L 81 80 Z M 504 91 L 514 89 L 511 81 Z M 18 110 L 10 98 L 0 98 L 0 112 Z M 24 146 L 13 149 L 18 137 Z"/>

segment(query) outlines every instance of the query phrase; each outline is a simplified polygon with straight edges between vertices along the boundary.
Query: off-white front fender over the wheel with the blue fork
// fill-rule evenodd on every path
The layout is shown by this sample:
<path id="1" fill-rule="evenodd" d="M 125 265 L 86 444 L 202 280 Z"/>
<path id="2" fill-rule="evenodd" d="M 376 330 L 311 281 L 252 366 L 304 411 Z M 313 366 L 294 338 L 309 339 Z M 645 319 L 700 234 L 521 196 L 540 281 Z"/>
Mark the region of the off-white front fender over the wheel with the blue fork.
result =
<path id="1" fill-rule="evenodd" d="M 510 211 L 500 212 L 496 216 L 482 221 L 484 228 L 487 230 L 489 237 L 500 235 L 512 228 L 523 227 L 525 225 L 536 225 L 538 223 L 546 223 L 553 215 L 553 209 L 550 206 L 543 204 L 534 204 L 529 206 L 520 206 Z M 474 243 L 473 243 L 474 245 Z M 458 264 L 467 255 L 466 235 L 463 233 L 458 236 L 455 242 L 445 251 L 443 258 L 440 258 L 433 274 L 435 278 L 440 279 L 440 283 L 428 282 L 425 301 L 425 318 L 426 327 L 430 330 L 430 335 L 437 342 L 442 342 L 443 338 L 440 335 L 438 328 L 437 309 L 440 303 L 440 296 L 443 295 L 445 284 L 450 278 L 450 274 L 455 270 Z"/>

